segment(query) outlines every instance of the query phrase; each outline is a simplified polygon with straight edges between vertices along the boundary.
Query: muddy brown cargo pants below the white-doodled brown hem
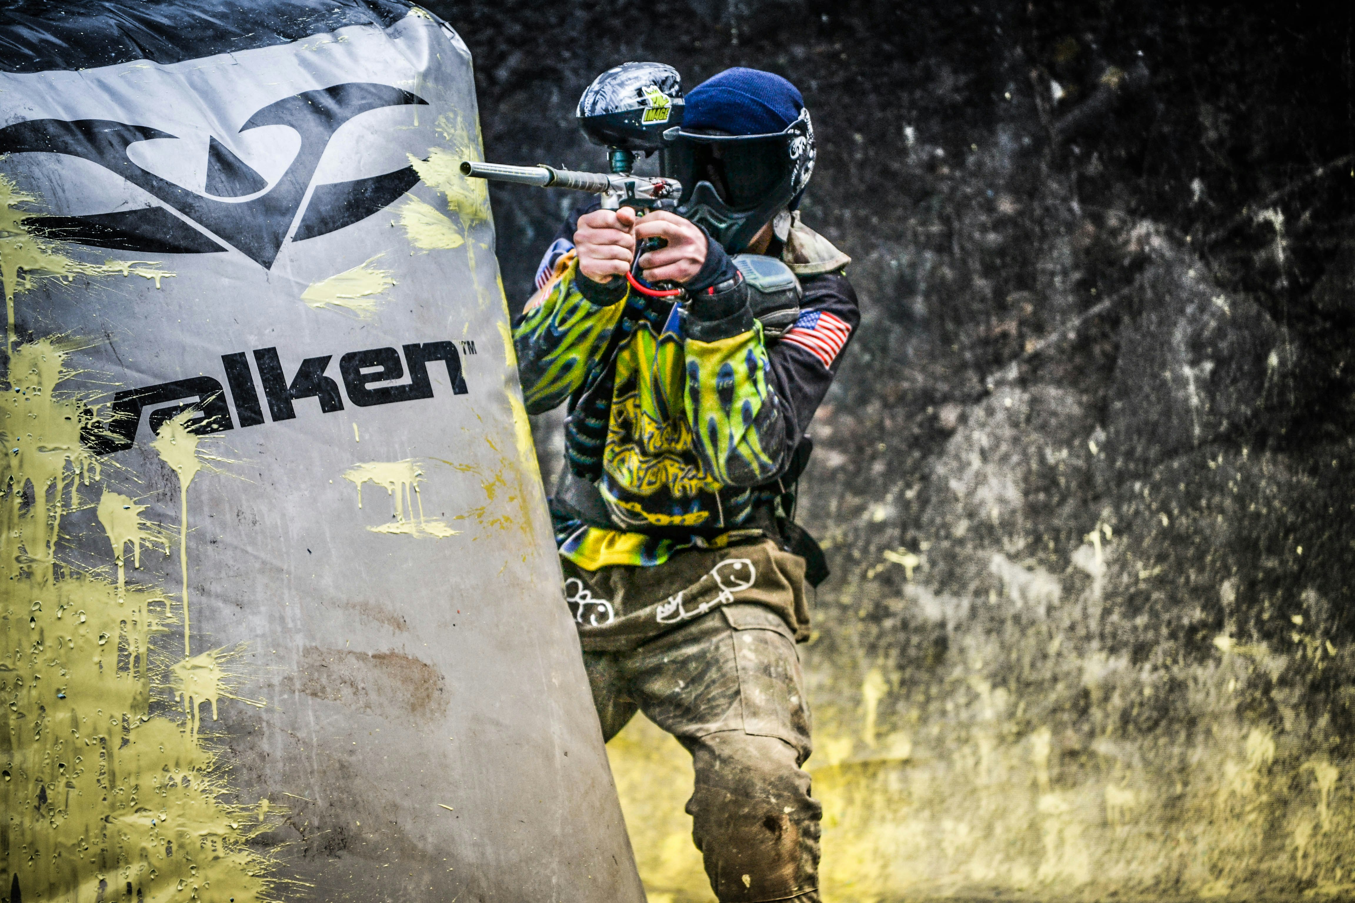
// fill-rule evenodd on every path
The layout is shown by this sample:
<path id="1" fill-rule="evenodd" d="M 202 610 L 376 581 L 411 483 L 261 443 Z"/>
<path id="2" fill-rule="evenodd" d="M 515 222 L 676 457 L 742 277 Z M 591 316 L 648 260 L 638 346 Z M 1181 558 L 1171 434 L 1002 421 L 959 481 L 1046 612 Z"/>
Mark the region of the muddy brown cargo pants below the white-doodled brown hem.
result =
<path id="1" fill-rule="evenodd" d="M 691 753 L 687 814 L 721 903 L 818 903 L 822 807 L 799 768 L 809 705 L 785 620 L 726 605 L 584 663 L 606 739 L 642 711 Z"/>

